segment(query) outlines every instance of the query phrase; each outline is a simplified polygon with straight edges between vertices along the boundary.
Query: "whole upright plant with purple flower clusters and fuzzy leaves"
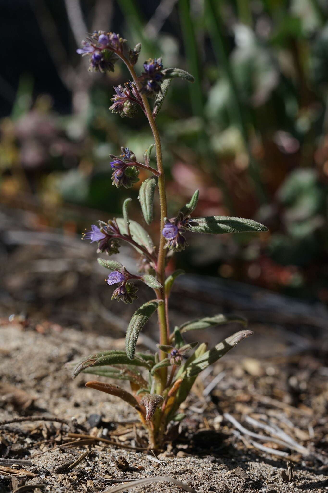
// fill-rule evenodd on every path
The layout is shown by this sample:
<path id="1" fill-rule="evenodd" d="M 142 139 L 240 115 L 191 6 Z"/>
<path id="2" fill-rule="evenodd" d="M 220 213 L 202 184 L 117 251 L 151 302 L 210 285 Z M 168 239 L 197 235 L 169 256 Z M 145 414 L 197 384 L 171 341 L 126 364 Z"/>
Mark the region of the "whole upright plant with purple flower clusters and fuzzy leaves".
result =
<path id="1" fill-rule="evenodd" d="M 171 79 L 180 77 L 193 82 L 193 77 L 185 70 L 163 67 L 162 59 L 149 59 L 144 63 L 144 71 L 137 75 L 134 69 L 138 61 L 141 44 L 135 48 L 127 47 L 126 40 L 115 33 L 96 31 L 82 42 L 79 54 L 89 56 L 91 71 L 113 71 L 120 59 L 131 73 L 132 80 L 115 87 L 115 95 L 110 107 L 113 113 L 133 117 L 140 108 L 149 121 L 154 143 L 144 154 L 144 162 L 137 161 L 135 154 L 122 147 L 121 154 L 110 155 L 113 169 L 113 185 L 129 188 L 139 181 L 139 169 L 149 172 L 140 186 L 139 201 L 146 223 L 153 220 L 153 198 L 158 187 L 160 202 L 160 230 L 157 248 L 146 230 L 128 217 L 127 198 L 123 203 L 122 217 L 99 221 L 99 226 L 92 225 L 84 235 L 91 242 L 98 244 L 98 253 L 107 255 L 119 253 L 121 242 L 127 242 L 141 255 L 139 274 L 133 274 L 116 260 L 98 258 L 98 262 L 110 271 L 109 286 L 115 286 L 112 300 L 133 303 L 138 299 L 135 282 L 144 282 L 155 292 L 151 299 L 139 307 L 132 316 L 126 330 L 126 351 L 103 351 L 91 354 L 76 366 L 73 378 L 79 373 L 92 373 L 114 380 L 128 380 L 131 392 L 116 384 L 98 381 L 88 382 L 87 387 L 95 388 L 116 395 L 130 404 L 139 414 L 140 420 L 148 432 L 149 447 L 159 449 L 165 445 L 166 432 L 170 422 L 183 418 L 179 414 L 180 404 L 188 396 L 197 375 L 209 365 L 230 351 L 242 339 L 250 336 L 250 330 L 240 330 L 208 350 L 207 344 L 198 346 L 197 342 L 184 341 L 186 332 L 206 329 L 214 325 L 229 322 L 246 321 L 238 316 L 216 315 L 186 321 L 171 332 L 169 322 L 169 297 L 175 279 L 184 274 L 178 270 L 166 277 L 167 258 L 188 246 L 185 236 L 189 233 L 221 234 L 245 231 L 267 231 L 262 224 L 250 219 L 230 216 L 192 216 L 198 201 L 196 190 L 190 202 L 177 211 L 176 216 L 167 218 L 165 178 L 162 150 L 156 125 L 156 116 L 169 89 Z M 149 99 L 153 99 L 152 109 Z M 157 169 L 150 167 L 149 159 L 155 147 Z M 138 270 L 138 268 L 136 268 Z M 157 311 L 159 341 L 155 354 L 136 352 L 140 331 L 147 320 Z M 197 347 L 198 346 L 198 347 Z M 148 375 L 146 375 L 146 373 Z"/>

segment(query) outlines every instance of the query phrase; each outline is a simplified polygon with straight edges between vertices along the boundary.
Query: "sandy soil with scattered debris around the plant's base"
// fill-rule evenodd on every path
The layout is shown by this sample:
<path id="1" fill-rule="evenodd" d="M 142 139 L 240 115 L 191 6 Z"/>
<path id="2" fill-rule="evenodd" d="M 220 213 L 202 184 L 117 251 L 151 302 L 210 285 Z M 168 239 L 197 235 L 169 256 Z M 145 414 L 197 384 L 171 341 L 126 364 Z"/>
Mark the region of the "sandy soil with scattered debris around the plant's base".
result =
<path id="1" fill-rule="evenodd" d="M 293 356 L 292 361 L 290 358 L 262 361 L 236 348 L 233 357 L 227 355 L 212 374 L 198 379 L 184 404 L 186 419 L 180 423 L 168 450 L 158 455 L 160 462 L 156 462 L 149 451 L 122 448 L 145 445 L 132 408 L 114 396 L 85 387 L 88 375 L 80 375 L 74 381 L 70 378 L 71 361 L 100 349 L 123 347 L 123 339 L 62 329 L 57 324 L 23 327 L 15 321 L 9 325 L 3 321 L 0 421 L 20 417 L 32 420 L 40 415 L 53 420 L 0 427 L 0 457 L 30 460 L 32 464 L 8 465 L 0 460 L 1 493 L 24 485 L 30 486 L 25 491 L 36 493 L 103 492 L 124 484 L 114 480 L 158 476 L 175 478 L 199 493 L 328 491 L 327 376 L 313 356 Z M 248 352 L 252 354 L 251 347 Z M 288 378 L 284 377 L 287 367 Z M 223 378 L 217 379 L 217 385 L 207 395 L 211 380 L 222 372 Z M 302 457 L 287 450 L 295 466 L 292 481 L 286 482 L 287 459 L 255 449 L 247 436 L 240 439 L 232 423 L 223 417 L 225 412 L 232 413 L 239 423 L 257 433 L 263 430 L 245 424 L 245 416 L 262 422 L 270 420 L 323 460 L 314 458 L 313 454 Z M 56 418 L 67 420 L 68 424 L 58 423 Z M 101 442 L 65 445 L 76 440 L 68 436 L 72 432 L 105 437 L 118 445 Z M 266 443 L 261 443 L 277 447 L 269 436 Z M 76 468 L 67 470 L 86 451 L 89 455 Z M 121 457 L 128 462 L 126 471 L 116 465 Z M 3 466 L 17 471 L 25 469 L 35 476 L 4 472 Z M 33 489 L 32 485 L 39 486 Z M 160 482 L 138 486 L 133 491 L 178 493 L 182 490 L 174 484 Z"/>

